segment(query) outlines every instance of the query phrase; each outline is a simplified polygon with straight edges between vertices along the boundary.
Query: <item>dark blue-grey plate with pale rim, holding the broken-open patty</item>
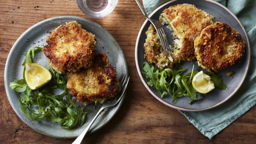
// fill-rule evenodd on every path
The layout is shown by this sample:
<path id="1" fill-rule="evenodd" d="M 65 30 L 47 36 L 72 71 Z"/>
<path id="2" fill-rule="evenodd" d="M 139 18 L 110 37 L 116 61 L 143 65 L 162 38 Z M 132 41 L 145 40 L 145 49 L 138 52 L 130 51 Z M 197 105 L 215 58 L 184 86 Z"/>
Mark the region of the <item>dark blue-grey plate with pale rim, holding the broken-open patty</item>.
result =
<path id="1" fill-rule="evenodd" d="M 144 49 L 143 44 L 145 43 L 146 34 L 150 22 L 146 20 L 138 34 L 136 47 L 135 47 L 135 61 L 136 61 L 136 67 L 138 70 L 138 74 L 146 87 L 146 89 L 160 102 L 164 103 L 167 106 L 170 106 L 172 108 L 178 109 L 178 110 L 185 110 L 185 111 L 203 111 L 212 109 L 216 106 L 221 105 L 222 103 L 226 102 L 229 98 L 231 98 L 238 89 L 242 86 L 242 83 L 245 80 L 245 77 L 247 75 L 249 65 L 250 65 L 250 44 L 249 40 L 246 34 L 246 31 L 244 27 L 242 26 L 241 22 L 238 20 L 238 18 L 225 6 L 219 4 L 218 2 L 212 1 L 212 0 L 172 0 L 169 2 L 166 2 L 165 4 L 159 6 L 152 14 L 150 14 L 150 18 L 153 19 L 159 19 L 160 14 L 162 11 L 169 6 L 182 4 L 182 3 L 189 3 L 194 4 L 197 8 L 206 11 L 207 13 L 213 15 L 215 17 L 214 21 L 222 21 L 228 23 L 231 27 L 233 27 L 236 31 L 238 31 L 242 35 L 242 39 L 245 41 L 245 53 L 242 58 L 242 61 L 234 66 L 229 67 L 226 70 L 220 71 L 220 74 L 222 75 L 223 82 L 228 86 L 227 90 L 220 90 L 219 88 L 215 88 L 210 93 L 212 96 L 206 95 L 203 98 L 201 98 L 198 101 L 195 101 L 191 105 L 188 103 L 190 101 L 190 98 L 188 97 L 182 97 L 178 98 L 174 103 L 172 103 L 172 98 L 170 96 L 167 96 L 165 98 L 161 98 L 161 96 L 158 94 L 155 88 L 148 86 L 146 84 L 147 80 L 144 76 L 142 76 L 140 71 L 143 71 L 142 69 L 142 63 L 146 62 L 146 60 L 143 58 L 144 55 Z M 172 36 L 171 31 L 167 29 L 166 26 L 164 26 L 167 37 L 169 40 L 169 43 L 172 43 Z M 192 62 L 182 62 L 182 68 L 188 68 L 187 72 L 192 71 L 192 66 L 195 64 L 195 61 Z M 198 68 L 198 65 L 195 64 L 195 69 Z M 227 76 L 227 71 L 233 71 L 234 74 L 232 76 Z"/>

